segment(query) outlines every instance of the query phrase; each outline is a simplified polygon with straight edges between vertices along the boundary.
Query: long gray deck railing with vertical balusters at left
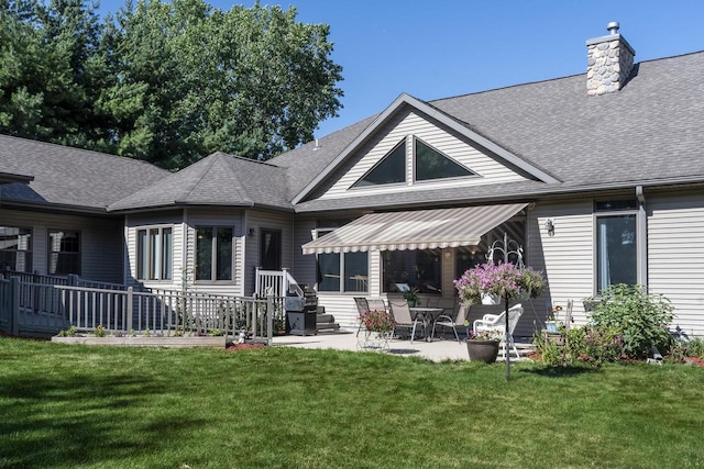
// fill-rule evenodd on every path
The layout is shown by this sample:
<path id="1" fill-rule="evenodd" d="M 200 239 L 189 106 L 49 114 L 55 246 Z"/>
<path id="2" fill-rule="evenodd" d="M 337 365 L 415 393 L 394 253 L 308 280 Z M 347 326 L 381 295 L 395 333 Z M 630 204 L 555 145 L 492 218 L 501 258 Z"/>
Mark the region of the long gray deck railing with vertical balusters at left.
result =
<path id="1" fill-rule="evenodd" d="M 113 287 L 113 286 L 109 286 Z M 284 328 L 283 299 L 208 294 L 194 291 L 135 291 L 0 279 L 0 330 L 42 327 L 58 333 L 106 328 L 110 334 L 232 335 L 271 340 Z M 25 335 L 25 334 L 22 334 Z"/>

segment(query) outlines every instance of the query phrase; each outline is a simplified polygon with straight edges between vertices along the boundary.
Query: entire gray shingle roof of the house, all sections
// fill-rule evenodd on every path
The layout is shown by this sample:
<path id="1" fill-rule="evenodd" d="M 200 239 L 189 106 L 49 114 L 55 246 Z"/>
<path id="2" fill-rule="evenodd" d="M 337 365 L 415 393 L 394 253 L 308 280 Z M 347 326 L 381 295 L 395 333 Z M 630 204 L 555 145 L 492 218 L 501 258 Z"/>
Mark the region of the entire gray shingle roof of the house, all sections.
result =
<path id="1" fill-rule="evenodd" d="M 604 96 L 586 96 L 583 74 L 431 101 L 425 104 L 559 182 L 309 198 L 296 211 L 466 203 L 684 179 L 704 182 L 702 77 L 704 52 L 637 64 L 620 91 Z M 176 174 L 130 158 L 0 135 L 0 172 L 22 175 L 19 180 L 6 178 L 18 182 L 1 185 L 1 198 L 87 210 L 180 204 L 293 210 L 290 201 L 355 137 L 376 125 L 375 119 L 320 138 L 318 148 L 310 142 L 267 163 L 216 153 Z"/>

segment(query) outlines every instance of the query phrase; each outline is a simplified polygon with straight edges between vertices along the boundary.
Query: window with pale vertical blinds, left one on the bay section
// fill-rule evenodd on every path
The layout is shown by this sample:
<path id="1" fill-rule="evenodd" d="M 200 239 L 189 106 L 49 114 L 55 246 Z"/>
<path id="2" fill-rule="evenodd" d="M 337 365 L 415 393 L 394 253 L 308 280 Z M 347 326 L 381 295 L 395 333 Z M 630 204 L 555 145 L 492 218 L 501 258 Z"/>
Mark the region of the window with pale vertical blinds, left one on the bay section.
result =
<path id="1" fill-rule="evenodd" d="M 172 280 L 173 265 L 172 228 L 138 230 L 136 278 L 139 280 Z"/>

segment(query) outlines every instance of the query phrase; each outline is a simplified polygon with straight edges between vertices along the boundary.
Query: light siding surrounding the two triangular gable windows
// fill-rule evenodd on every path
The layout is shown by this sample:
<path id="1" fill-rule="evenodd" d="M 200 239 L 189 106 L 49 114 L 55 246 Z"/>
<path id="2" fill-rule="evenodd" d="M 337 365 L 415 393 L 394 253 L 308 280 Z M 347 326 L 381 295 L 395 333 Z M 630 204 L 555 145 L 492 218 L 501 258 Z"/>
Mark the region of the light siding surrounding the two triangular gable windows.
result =
<path id="1" fill-rule="evenodd" d="M 358 197 L 369 193 L 388 193 L 408 190 L 427 190 L 429 188 L 471 187 L 487 183 L 522 181 L 525 178 L 506 167 L 501 161 L 479 152 L 471 143 L 458 137 L 452 132 L 415 112 L 402 112 L 380 132 L 381 137 L 362 146 L 351 160 L 353 166 L 343 168 L 340 178 L 322 194 L 320 199 Z M 413 136 L 422 139 L 433 148 L 442 152 L 459 164 L 468 167 L 477 177 L 458 178 L 443 181 L 424 181 L 413 183 Z M 406 167 L 408 170 L 406 185 L 387 187 L 349 189 L 366 171 L 376 165 L 399 142 L 406 142 Z"/>

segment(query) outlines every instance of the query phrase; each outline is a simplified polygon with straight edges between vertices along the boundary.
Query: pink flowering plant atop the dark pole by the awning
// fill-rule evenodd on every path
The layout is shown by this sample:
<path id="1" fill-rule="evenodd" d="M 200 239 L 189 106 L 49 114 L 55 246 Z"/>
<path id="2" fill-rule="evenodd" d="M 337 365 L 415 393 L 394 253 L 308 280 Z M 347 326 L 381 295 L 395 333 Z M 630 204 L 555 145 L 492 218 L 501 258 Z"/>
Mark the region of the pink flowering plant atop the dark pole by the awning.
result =
<path id="1" fill-rule="evenodd" d="M 538 298 L 544 290 L 546 281 L 542 272 L 530 267 L 487 263 L 466 270 L 454 280 L 454 287 L 460 300 L 470 306 L 480 301 L 483 304 L 498 304 L 506 297 L 510 301 Z"/>

